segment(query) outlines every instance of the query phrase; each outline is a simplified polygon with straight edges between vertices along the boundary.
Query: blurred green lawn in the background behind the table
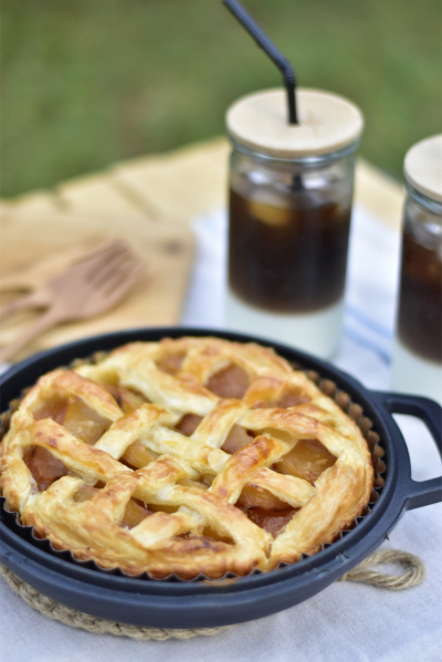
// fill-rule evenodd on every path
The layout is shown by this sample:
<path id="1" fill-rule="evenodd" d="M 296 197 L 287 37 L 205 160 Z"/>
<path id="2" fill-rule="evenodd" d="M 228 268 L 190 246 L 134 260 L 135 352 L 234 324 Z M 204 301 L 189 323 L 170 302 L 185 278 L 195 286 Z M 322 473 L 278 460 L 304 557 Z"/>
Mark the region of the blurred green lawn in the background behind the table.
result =
<path id="1" fill-rule="evenodd" d="M 439 0 L 244 0 L 303 86 L 364 109 L 361 153 L 400 177 L 441 130 Z M 280 85 L 221 0 L 3 0 L 2 195 L 223 133 Z"/>

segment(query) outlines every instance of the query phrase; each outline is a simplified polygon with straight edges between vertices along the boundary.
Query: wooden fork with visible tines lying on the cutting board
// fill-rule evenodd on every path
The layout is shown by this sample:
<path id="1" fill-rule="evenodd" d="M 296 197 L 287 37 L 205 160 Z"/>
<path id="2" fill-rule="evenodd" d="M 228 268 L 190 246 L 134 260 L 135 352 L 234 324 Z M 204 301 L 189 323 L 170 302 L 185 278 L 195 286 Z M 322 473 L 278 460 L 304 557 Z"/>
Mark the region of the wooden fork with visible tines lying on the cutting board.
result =
<path id="1" fill-rule="evenodd" d="M 112 244 L 99 260 L 90 256 L 77 262 L 50 281 L 51 307 L 17 340 L 0 349 L 0 364 L 61 322 L 101 315 L 117 304 L 144 272 L 138 258 L 123 242 Z"/>

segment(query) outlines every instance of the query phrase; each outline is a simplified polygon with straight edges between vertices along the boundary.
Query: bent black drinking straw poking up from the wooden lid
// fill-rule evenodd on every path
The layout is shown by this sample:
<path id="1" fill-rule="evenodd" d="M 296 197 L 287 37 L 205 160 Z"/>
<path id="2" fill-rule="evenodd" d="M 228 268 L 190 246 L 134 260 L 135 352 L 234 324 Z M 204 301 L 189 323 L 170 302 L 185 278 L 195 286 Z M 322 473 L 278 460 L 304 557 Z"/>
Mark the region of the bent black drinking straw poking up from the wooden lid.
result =
<path id="1" fill-rule="evenodd" d="M 282 72 L 284 77 L 284 85 L 287 91 L 288 102 L 288 124 L 298 124 L 297 112 L 296 112 L 296 77 L 293 66 L 284 57 L 284 55 L 276 49 L 275 44 L 271 42 L 269 36 L 261 30 L 255 23 L 252 17 L 245 11 L 238 0 L 222 0 L 225 7 L 232 12 L 232 14 L 240 21 L 251 36 L 255 40 L 260 49 L 262 49 L 269 57 L 276 64 L 277 69 Z"/>

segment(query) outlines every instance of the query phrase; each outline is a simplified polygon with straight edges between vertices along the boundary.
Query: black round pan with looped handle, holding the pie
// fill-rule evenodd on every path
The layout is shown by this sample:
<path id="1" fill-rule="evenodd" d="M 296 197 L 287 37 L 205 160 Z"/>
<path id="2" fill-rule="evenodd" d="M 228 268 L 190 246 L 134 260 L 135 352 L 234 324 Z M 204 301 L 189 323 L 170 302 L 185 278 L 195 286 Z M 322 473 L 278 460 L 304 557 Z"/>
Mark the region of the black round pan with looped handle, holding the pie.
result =
<path id="1" fill-rule="evenodd" d="M 70 560 L 70 553 L 53 553 L 49 540 L 35 544 L 30 527 L 19 526 L 1 498 L 0 563 L 46 596 L 80 611 L 107 620 L 152 628 L 213 628 L 250 621 L 307 600 L 325 589 L 373 551 L 406 511 L 442 501 L 442 477 L 417 482 L 411 479 L 410 458 L 392 413 L 421 419 L 442 454 L 442 409 L 418 396 L 372 391 L 330 364 L 265 339 L 201 328 L 143 328 L 85 338 L 32 356 L 1 376 L 0 411 L 20 398 L 41 375 L 136 340 L 164 337 L 218 336 L 241 343 L 271 346 L 304 370 L 314 370 L 362 408 L 379 435 L 386 467 L 379 497 L 368 514 L 358 517 L 351 530 L 324 545 L 314 556 L 246 577 L 221 581 L 149 580 L 122 572 L 97 570 L 94 563 Z M 382 465 L 383 467 L 383 465 Z"/>

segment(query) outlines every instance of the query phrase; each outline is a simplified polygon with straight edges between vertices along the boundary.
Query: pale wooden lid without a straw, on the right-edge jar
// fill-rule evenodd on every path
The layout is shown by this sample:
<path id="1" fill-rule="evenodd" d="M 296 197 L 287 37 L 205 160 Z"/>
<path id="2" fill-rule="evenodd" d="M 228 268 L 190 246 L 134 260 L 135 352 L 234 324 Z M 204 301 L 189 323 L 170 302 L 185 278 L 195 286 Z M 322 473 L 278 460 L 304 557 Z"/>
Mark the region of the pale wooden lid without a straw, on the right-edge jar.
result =
<path id="1" fill-rule="evenodd" d="M 442 202 L 442 135 L 413 145 L 406 155 L 403 174 L 420 193 Z"/>

